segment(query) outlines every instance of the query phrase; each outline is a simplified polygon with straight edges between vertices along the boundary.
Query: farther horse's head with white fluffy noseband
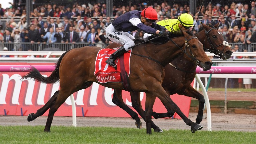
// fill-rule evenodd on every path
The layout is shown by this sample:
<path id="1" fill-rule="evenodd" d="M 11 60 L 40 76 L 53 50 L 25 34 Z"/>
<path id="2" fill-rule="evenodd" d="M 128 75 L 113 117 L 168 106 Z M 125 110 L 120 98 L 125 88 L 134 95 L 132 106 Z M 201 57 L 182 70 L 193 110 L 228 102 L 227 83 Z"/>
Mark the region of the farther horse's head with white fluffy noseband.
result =
<path id="1" fill-rule="evenodd" d="M 212 26 L 203 23 L 199 32 L 196 34 L 204 45 L 204 49 L 215 54 L 215 57 L 229 59 L 232 50 L 228 46 L 228 42 L 224 41 L 222 34 L 218 31 L 219 23 Z"/>

